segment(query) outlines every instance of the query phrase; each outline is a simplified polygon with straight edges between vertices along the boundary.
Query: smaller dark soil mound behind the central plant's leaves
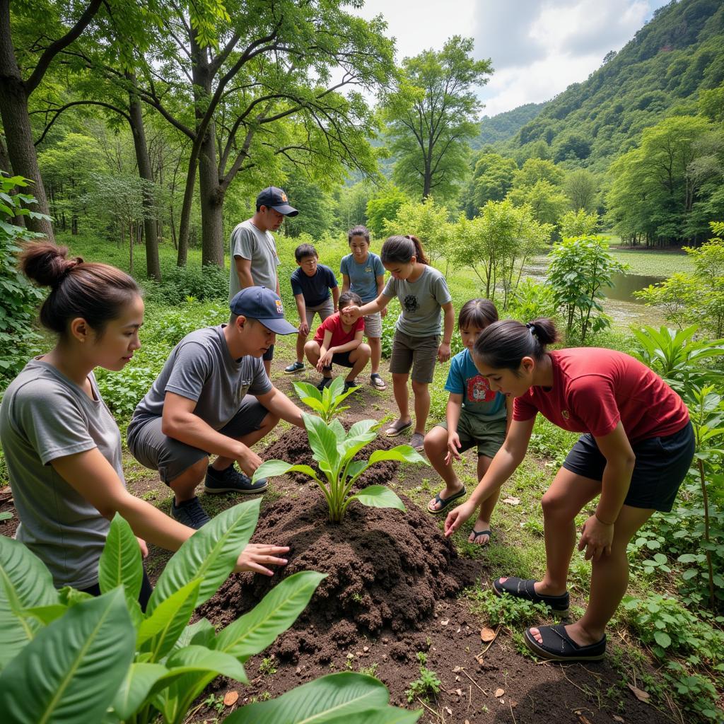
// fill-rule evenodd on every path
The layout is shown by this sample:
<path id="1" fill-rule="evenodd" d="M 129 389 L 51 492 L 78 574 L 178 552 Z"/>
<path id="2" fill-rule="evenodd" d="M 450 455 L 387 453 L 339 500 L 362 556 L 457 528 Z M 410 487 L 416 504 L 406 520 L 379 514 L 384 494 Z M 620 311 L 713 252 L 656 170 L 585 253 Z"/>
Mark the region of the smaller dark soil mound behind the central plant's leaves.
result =
<path id="1" fill-rule="evenodd" d="M 346 430 L 350 429 L 349 423 L 342 423 Z M 355 455 L 355 460 L 367 460 L 375 450 L 390 450 L 395 445 L 400 445 L 402 439 L 390 439 L 384 435 L 378 435 L 369 445 Z M 313 452 L 309 447 L 306 430 L 298 427 L 292 428 L 278 440 L 275 440 L 261 452 L 262 460 L 285 460 L 294 465 L 309 465 L 319 473 L 319 466 L 313 458 Z M 387 485 L 397 473 L 397 463 L 392 460 L 382 460 L 366 470 L 357 480 L 357 487 L 366 488 L 368 485 Z M 303 473 L 290 473 L 290 477 L 297 483 L 306 483 L 309 478 Z"/>

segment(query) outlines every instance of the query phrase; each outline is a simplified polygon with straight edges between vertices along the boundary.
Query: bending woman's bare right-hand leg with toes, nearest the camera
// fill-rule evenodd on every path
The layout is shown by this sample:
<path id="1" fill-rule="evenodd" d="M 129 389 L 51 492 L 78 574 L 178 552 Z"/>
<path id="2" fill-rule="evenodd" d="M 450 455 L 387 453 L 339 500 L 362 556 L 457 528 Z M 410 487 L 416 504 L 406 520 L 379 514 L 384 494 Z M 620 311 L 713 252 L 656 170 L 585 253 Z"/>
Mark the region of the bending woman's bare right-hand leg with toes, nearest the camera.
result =
<path id="1" fill-rule="evenodd" d="M 588 646 L 603 638 L 606 624 L 616 612 L 628 586 L 628 542 L 654 512 L 644 508 L 631 508 L 629 505 L 621 508 L 614 527 L 611 554 L 602 555 L 599 560 L 593 561 L 591 593 L 586 613 L 576 623 L 565 627 L 565 632 L 576 644 Z M 539 643 L 542 641 L 537 628 L 531 628 L 531 634 Z"/>

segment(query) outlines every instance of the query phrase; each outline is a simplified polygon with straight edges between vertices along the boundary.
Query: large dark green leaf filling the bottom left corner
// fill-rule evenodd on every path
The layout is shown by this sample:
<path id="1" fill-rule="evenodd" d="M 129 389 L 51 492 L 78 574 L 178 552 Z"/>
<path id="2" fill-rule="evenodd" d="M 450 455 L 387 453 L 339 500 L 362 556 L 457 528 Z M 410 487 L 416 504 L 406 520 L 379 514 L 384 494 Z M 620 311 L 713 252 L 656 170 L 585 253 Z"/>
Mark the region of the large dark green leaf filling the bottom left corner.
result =
<path id="1" fill-rule="evenodd" d="M 3 724 L 101 721 L 133 660 L 122 589 L 71 607 L 0 675 Z"/>

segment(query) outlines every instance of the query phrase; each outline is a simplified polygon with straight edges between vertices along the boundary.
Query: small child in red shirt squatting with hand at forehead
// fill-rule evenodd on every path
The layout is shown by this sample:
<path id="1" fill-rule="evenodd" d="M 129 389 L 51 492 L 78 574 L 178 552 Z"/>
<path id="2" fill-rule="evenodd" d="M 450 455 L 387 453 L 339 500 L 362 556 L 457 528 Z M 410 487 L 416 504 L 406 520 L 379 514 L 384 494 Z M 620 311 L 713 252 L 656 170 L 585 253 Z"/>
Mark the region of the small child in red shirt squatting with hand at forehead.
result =
<path id="1" fill-rule="evenodd" d="M 328 316 L 317 327 L 314 339 L 304 345 L 309 363 L 322 374 L 321 382 L 317 385 L 319 390 L 324 390 L 332 383 L 332 364 L 350 368 L 345 378 L 345 392 L 351 387 L 357 387 L 355 377 L 366 367 L 372 350 L 362 342 L 364 319 L 354 319 L 349 314 L 342 314 L 341 310 L 361 303 L 361 298 L 354 292 L 344 292 L 340 295 L 340 311 Z"/>

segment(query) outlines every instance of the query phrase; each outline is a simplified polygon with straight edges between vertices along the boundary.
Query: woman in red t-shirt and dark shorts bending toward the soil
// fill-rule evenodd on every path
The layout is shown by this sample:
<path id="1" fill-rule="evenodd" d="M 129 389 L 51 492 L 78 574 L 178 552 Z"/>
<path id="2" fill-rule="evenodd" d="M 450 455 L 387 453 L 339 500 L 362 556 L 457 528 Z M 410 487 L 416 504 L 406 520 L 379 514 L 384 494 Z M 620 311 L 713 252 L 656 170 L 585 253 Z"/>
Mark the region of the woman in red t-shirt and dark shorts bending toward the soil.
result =
<path id="1" fill-rule="evenodd" d="M 605 627 L 628 585 L 626 546 L 655 510 L 668 511 L 694 457 L 689 412 L 647 366 L 629 355 L 597 348 L 547 352 L 557 332 L 550 319 L 505 320 L 481 332 L 473 348 L 491 390 L 515 397 L 513 423 L 470 499 L 445 521 L 450 536 L 497 493 L 521 464 L 536 413 L 584 433 L 557 472 L 541 505 L 546 572 L 542 581 L 498 578 L 498 595 L 544 602 L 568 613 L 568 564 L 576 543 L 576 515 L 600 495 L 584 523 L 578 550 L 592 560 L 589 605 L 568 626 L 526 631 L 526 644 L 552 660 L 599 660 Z"/>

